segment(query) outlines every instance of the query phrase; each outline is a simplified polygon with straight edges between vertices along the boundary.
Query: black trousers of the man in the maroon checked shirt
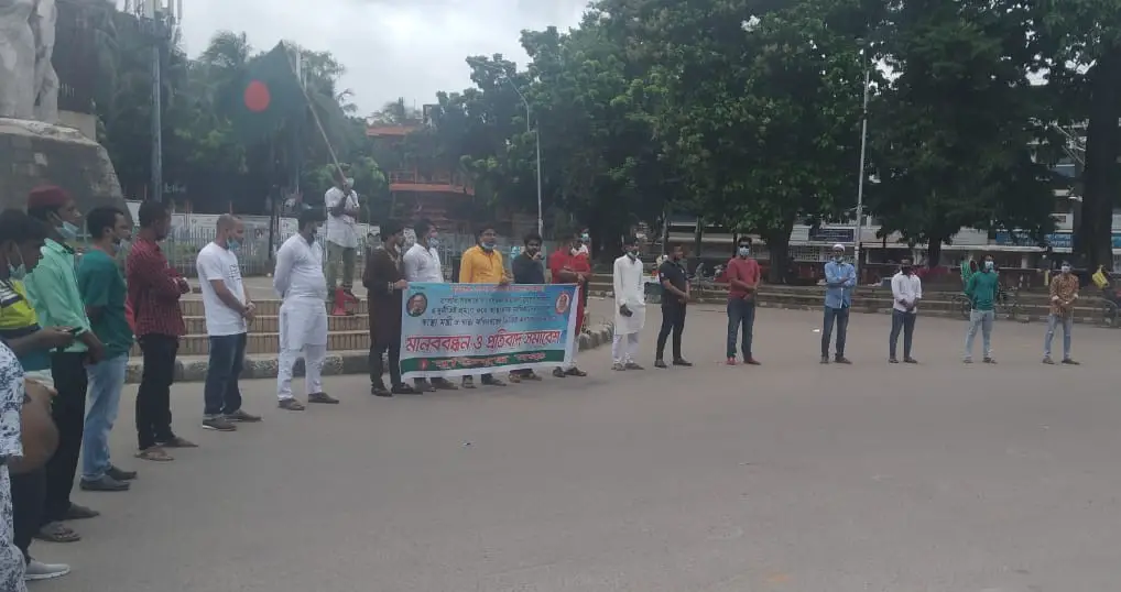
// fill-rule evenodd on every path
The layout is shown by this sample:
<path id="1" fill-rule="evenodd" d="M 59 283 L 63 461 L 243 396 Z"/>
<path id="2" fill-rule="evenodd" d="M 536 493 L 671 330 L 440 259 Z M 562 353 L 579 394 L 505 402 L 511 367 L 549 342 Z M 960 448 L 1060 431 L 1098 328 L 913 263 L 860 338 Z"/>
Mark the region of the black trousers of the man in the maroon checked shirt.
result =
<path id="1" fill-rule="evenodd" d="M 137 442 L 140 450 L 175 440 L 172 432 L 172 383 L 179 340 L 172 335 L 141 335 L 143 374 L 137 391 Z"/>

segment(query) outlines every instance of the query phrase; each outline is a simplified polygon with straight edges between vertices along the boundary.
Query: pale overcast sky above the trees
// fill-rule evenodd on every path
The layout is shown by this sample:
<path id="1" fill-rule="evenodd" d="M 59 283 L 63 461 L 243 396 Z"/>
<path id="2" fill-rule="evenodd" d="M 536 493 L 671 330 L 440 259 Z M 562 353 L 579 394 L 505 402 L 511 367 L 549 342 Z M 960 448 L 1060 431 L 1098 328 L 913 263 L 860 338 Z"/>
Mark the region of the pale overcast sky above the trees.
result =
<path id="1" fill-rule="evenodd" d="M 363 114 L 404 96 L 471 85 L 469 55 L 501 53 L 525 65 L 521 29 L 576 25 L 586 0 L 182 0 L 183 37 L 195 56 L 222 29 L 245 31 L 258 50 L 289 39 L 346 66 L 342 89 Z M 123 3 L 118 0 L 118 3 Z"/>

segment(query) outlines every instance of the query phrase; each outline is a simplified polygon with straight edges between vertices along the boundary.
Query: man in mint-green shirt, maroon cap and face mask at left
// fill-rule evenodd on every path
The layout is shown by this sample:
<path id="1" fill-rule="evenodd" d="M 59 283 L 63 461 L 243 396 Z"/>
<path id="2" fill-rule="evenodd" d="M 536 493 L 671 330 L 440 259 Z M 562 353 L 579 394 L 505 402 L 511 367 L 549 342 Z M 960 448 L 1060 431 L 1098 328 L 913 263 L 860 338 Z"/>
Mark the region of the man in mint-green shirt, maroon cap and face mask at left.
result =
<path id="1" fill-rule="evenodd" d="M 25 281 L 27 295 L 40 324 L 71 327 L 77 336 L 72 345 L 57 349 L 50 355 L 50 374 L 58 392 L 50 409 L 58 426 L 58 450 L 47 462 L 46 505 L 43 527 L 37 535 L 44 540 L 71 542 L 77 537 L 63 524 L 64 520 L 99 515 L 71 502 L 71 491 L 74 489 L 85 425 L 86 364 L 104 360 L 105 346 L 90 329 L 77 287 L 75 252 L 66 244 L 66 241 L 77 238 L 77 224 L 82 220 L 74 200 L 61 187 L 38 187 L 28 195 L 27 213 L 47 229 L 43 258 Z"/>

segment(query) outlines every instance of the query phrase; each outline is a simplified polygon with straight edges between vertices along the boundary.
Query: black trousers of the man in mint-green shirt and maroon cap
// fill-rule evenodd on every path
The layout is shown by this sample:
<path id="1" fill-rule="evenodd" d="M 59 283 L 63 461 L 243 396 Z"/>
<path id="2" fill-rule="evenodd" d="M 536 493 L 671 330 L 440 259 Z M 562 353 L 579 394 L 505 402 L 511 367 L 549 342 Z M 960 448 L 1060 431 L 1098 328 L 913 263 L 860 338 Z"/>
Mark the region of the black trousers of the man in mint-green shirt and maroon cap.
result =
<path id="1" fill-rule="evenodd" d="M 85 373 L 89 354 L 55 353 L 50 357 L 50 374 L 58 395 L 50 406 L 50 415 L 58 427 L 58 448 L 47 461 L 47 491 L 41 522 L 66 518 L 70 494 L 74 489 L 74 473 L 82 452 L 82 427 L 85 424 L 85 392 L 90 386 Z"/>

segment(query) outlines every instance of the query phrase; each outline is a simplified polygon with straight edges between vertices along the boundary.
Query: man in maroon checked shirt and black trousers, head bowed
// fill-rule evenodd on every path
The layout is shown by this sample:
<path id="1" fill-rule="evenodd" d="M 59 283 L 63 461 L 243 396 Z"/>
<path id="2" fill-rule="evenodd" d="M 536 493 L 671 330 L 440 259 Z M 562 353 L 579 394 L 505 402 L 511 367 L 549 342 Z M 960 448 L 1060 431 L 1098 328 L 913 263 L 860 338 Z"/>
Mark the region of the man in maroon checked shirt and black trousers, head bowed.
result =
<path id="1" fill-rule="evenodd" d="M 159 241 L 167 238 L 172 214 L 161 202 L 140 205 L 140 232 L 126 265 L 137 341 L 143 352 L 143 376 L 137 392 L 137 437 L 147 461 L 173 460 L 164 448 L 195 444 L 172 432 L 172 381 L 179 337 L 186 332 L 179 297 L 191 292 L 187 281 L 167 263 Z"/>

